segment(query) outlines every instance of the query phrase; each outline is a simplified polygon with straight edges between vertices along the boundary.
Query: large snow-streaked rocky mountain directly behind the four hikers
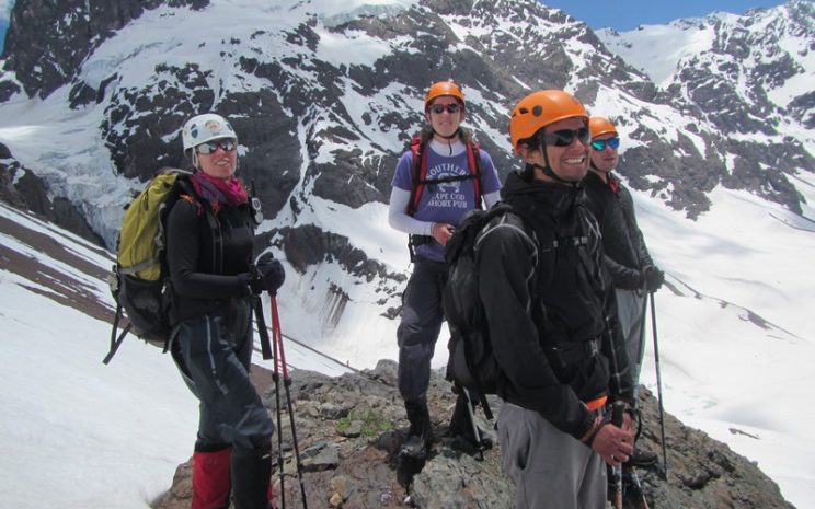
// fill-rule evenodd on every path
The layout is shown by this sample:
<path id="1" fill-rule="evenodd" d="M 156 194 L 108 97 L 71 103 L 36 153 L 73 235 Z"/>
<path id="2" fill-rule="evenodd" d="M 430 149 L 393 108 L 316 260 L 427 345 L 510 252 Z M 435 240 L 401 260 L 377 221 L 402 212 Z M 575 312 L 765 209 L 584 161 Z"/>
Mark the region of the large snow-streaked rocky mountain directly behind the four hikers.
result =
<path id="1" fill-rule="evenodd" d="M 464 84 L 467 124 L 502 174 L 516 165 L 508 108 L 539 88 L 567 88 L 613 116 L 627 139 L 620 173 L 690 217 L 709 209 L 708 192 L 720 184 L 801 212 L 788 173 L 813 167 L 797 134 L 782 146 L 733 141 L 705 116 L 673 105 L 585 24 L 533 1 L 338 10 L 317 0 L 119 0 L 90 11 L 78 0 L 47 3 L 15 5 L 0 107 L 10 115 L 38 102 L 61 108 L 31 120 L 47 124 L 59 142 L 48 151 L 10 142 L 0 164 L 43 177 L 110 246 L 138 181 L 160 165 L 185 164 L 183 120 L 204 109 L 229 115 L 241 136 L 241 174 L 275 218 L 264 239 L 301 275 L 298 291 L 325 296 L 309 309 L 322 317 L 314 337 L 331 335 L 354 306 L 377 308 L 387 321 L 398 314 L 404 274 L 394 267 L 405 262 L 394 245 L 403 239 L 383 233 L 382 246 L 359 231 L 387 229 L 390 177 L 434 80 Z M 31 41 L 38 44 L 24 44 Z M 74 132 L 81 128 L 91 137 Z M 789 164 L 777 164 L 779 151 Z"/>

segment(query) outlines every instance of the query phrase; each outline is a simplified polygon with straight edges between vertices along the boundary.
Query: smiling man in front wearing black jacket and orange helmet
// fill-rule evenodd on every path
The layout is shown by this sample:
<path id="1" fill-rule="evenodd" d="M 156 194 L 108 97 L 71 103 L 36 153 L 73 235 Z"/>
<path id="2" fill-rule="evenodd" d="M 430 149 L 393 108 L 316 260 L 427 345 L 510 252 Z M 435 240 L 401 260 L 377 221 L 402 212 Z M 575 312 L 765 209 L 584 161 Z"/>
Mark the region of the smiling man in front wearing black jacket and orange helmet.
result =
<path id="1" fill-rule="evenodd" d="M 525 162 L 501 192 L 514 211 L 479 242 L 479 293 L 501 369 L 498 440 L 517 509 L 606 507 L 605 464 L 633 451 L 631 375 L 602 268 L 597 222 L 582 206 L 588 115 L 561 90 L 523 99 L 509 134 Z"/>

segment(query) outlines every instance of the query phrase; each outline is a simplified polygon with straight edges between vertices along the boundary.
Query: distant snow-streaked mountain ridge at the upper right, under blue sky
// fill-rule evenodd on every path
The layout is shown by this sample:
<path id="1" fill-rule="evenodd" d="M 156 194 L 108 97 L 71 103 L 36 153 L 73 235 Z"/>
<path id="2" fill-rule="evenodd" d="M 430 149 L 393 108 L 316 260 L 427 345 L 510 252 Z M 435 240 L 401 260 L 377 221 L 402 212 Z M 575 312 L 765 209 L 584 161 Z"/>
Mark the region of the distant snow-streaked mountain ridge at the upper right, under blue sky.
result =
<path id="1" fill-rule="evenodd" d="M 659 82 L 658 102 L 690 112 L 725 134 L 716 147 L 720 153 L 744 155 L 720 173 L 725 186 L 760 178 L 769 165 L 781 173 L 751 190 L 794 200 L 794 189 L 779 185 L 778 177 L 794 178 L 799 170 L 813 169 L 813 20 L 815 2 L 792 0 L 743 16 L 720 12 L 623 34 L 606 28 L 598 35 L 623 58 L 652 69 Z M 687 45 L 677 47 L 677 39 Z M 664 62 L 674 60 L 673 69 Z"/>

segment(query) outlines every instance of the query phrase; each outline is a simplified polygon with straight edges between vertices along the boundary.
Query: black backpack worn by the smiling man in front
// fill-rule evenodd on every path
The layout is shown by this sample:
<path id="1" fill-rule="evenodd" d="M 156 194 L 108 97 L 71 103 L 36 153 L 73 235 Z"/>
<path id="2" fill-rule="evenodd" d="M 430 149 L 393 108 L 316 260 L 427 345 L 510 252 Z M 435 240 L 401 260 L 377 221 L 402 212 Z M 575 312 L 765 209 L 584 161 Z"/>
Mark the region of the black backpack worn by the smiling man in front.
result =
<path id="1" fill-rule="evenodd" d="M 448 280 L 443 302 L 450 329 L 447 378 L 474 395 L 489 419 L 493 416 L 486 395 L 497 393 L 501 369 L 493 356 L 484 306 L 479 298 L 477 250 L 487 223 L 507 212 L 520 217 L 505 203 L 489 210 L 471 210 L 445 246 Z"/>

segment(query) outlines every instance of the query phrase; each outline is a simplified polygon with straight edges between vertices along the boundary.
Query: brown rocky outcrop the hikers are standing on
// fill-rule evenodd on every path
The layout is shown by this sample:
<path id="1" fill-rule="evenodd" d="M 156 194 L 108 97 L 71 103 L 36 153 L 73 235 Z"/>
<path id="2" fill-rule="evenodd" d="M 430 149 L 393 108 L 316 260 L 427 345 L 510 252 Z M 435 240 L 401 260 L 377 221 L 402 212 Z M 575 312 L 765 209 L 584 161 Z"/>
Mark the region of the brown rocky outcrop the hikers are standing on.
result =
<path id="1" fill-rule="evenodd" d="M 424 464 L 398 459 L 404 440 L 404 408 L 395 387 L 397 365 L 381 361 L 376 369 L 340 378 L 308 371 L 291 373 L 290 397 L 309 507 L 423 509 L 513 507 L 513 485 L 503 474 L 500 444 L 483 461 L 466 442 L 446 435 L 455 394 L 439 372 L 433 373 L 429 394 L 434 432 L 439 439 Z M 277 394 L 269 385 L 263 401 L 275 412 Z M 286 502 L 300 507 L 286 394 L 280 389 Z M 493 409 L 500 401 L 492 398 Z M 645 423 L 640 447 L 662 451 L 658 412 L 654 397 L 641 389 Z M 479 410 L 477 418 L 492 429 Z M 727 446 L 666 415 L 667 481 L 659 468 L 638 470 L 651 507 L 793 509 L 778 486 L 756 465 Z M 273 442 L 277 443 L 277 438 Z M 276 470 L 277 467 L 275 467 Z M 179 466 L 169 490 L 154 509 L 190 506 L 192 463 Z M 280 490 L 279 472 L 272 479 Z M 170 483 L 170 479 L 168 479 Z M 627 507 L 634 507 L 627 501 Z"/>

